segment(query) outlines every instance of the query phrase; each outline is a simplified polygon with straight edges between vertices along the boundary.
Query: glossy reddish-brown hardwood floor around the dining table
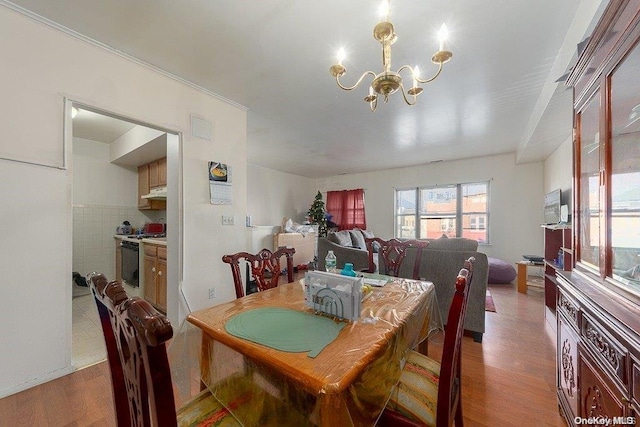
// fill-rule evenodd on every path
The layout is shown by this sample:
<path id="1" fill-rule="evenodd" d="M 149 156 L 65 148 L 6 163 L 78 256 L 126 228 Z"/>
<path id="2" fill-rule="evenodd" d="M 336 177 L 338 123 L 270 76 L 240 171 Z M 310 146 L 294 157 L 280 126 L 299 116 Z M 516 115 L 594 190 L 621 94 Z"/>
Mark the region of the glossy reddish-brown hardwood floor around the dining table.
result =
<path id="1" fill-rule="evenodd" d="M 565 426 L 555 394 L 555 334 L 541 289 L 490 285 L 483 343 L 464 338 L 463 414 L 467 426 Z M 429 343 L 441 355 L 442 336 Z M 0 399 L 0 426 L 113 426 L 106 362 Z"/>

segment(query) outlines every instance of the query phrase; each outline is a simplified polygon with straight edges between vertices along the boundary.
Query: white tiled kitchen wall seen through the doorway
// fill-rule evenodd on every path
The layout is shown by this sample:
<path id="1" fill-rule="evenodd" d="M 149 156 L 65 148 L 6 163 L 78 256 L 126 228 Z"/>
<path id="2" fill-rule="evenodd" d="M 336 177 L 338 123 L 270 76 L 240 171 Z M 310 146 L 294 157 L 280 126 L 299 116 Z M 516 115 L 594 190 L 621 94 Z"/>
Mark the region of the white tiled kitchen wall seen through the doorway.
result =
<path id="1" fill-rule="evenodd" d="M 73 271 L 83 276 L 97 271 L 115 280 L 116 227 L 129 221 L 134 228 L 146 222 L 165 222 L 166 211 L 139 211 L 130 206 L 73 205 Z"/>

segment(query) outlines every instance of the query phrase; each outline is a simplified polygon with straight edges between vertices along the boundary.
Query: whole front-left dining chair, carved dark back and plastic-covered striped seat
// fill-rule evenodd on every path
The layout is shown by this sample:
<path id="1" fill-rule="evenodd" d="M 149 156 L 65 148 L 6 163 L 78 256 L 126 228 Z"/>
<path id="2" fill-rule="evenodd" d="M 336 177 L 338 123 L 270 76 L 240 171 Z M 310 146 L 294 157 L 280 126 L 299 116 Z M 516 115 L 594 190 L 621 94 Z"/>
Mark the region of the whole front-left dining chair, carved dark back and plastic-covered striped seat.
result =
<path id="1" fill-rule="evenodd" d="M 229 411 L 204 389 L 176 409 L 171 370 L 165 343 L 173 337 L 169 320 L 151 304 L 128 297 L 122 284 L 107 282 L 102 274 L 89 276 L 95 297 L 111 371 L 112 394 L 119 427 L 241 425 Z M 227 393 L 234 411 L 251 414 L 258 402 L 270 399 L 268 393 L 244 378 L 216 385 Z M 282 412 L 282 411 L 281 411 Z M 260 420 L 260 424 L 267 424 Z"/>

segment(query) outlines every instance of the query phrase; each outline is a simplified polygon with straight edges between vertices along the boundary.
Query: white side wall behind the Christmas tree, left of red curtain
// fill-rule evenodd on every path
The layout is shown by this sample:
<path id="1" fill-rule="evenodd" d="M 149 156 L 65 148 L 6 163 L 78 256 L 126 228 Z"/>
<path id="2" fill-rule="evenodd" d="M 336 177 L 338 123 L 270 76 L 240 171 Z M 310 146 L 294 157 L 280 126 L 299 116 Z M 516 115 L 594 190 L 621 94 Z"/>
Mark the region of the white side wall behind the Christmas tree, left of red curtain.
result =
<path id="1" fill-rule="evenodd" d="M 261 166 L 247 166 L 247 215 L 253 225 L 302 223 L 316 195 L 316 180 Z"/>

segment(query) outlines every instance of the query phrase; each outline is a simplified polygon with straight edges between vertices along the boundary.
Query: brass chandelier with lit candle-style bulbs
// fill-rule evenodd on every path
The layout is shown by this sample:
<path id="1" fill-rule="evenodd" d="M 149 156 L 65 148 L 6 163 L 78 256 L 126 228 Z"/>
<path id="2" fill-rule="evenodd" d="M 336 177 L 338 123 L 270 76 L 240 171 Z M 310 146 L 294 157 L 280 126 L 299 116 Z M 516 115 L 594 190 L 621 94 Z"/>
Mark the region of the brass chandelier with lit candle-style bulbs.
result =
<path id="1" fill-rule="evenodd" d="M 376 110 L 379 95 L 384 97 L 384 102 L 386 103 L 389 100 L 389 95 L 398 91 L 398 89 L 402 92 L 402 97 L 405 102 L 409 105 L 414 105 L 417 101 L 418 95 L 422 93 L 422 88 L 419 84 L 425 84 L 435 80 L 442 71 L 442 65 L 445 62 L 448 62 L 453 56 L 450 51 L 445 50 L 445 41 L 447 40 L 448 32 L 447 26 L 442 24 L 440 32 L 438 33 L 440 47 L 431 57 L 431 61 L 438 66 L 438 70 L 433 76 L 428 79 L 421 79 L 420 69 L 418 66 L 411 67 L 410 65 L 403 65 L 398 69 L 398 71 L 391 71 L 391 45 L 395 43 L 397 36 L 395 29 L 393 28 L 393 24 L 389 21 L 389 0 L 383 0 L 380 9 L 383 20 L 373 28 L 373 38 L 382 45 L 383 71 L 380 74 L 376 74 L 373 71 L 365 71 L 360 76 L 356 84 L 353 86 L 344 86 L 340 83 L 340 77 L 347 72 L 347 69 L 342 65 L 342 61 L 345 58 L 345 52 L 342 48 L 338 51 L 338 63 L 332 65 L 329 69 L 331 75 L 336 78 L 338 86 L 344 90 L 353 90 L 358 87 L 365 77 L 373 77 L 373 81 L 369 86 L 369 95 L 364 98 L 364 101 L 369 103 L 371 111 Z M 413 77 L 413 85 L 408 90 L 405 90 L 404 85 L 402 84 L 402 76 L 400 74 L 405 70 L 411 73 Z"/>

